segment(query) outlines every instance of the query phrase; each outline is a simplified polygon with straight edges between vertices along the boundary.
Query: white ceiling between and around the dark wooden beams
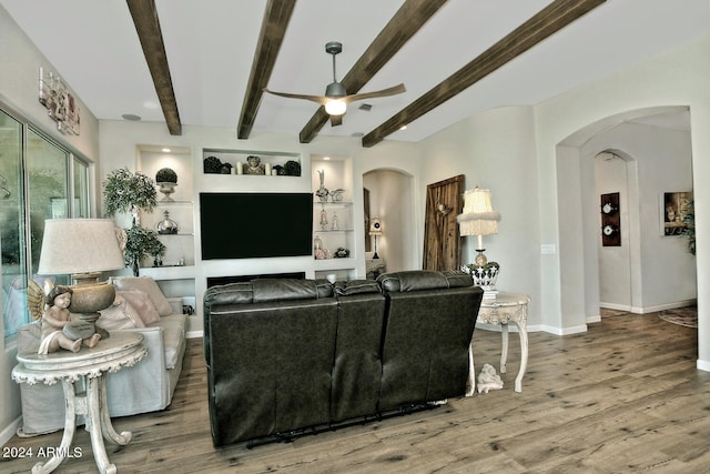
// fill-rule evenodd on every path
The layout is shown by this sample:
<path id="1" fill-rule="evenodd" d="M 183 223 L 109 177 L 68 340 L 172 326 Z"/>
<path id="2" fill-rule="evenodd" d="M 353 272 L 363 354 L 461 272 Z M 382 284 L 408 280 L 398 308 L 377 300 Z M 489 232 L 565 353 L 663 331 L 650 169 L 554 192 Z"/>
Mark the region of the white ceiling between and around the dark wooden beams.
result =
<path id="1" fill-rule="evenodd" d="M 236 130 L 265 0 L 155 0 L 183 125 Z M 344 44 L 341 79 L 402 0 L 304 0 L 296 4 L 268 88 L 323 94 L 328 41 Z M 407 92 L 348 107 L 320 135 L 367 133 L 549 3 L 449 0 L 361 92 L 404 82 Z M 57 72 L 101 120 L 164 122 L 125 1 L 0 0 Z M 535 104 L 710 32 L 708 0 L 608 0 L 390 139 L 419 141 L 474 113 Z M 264 94 L 252 137 L 297 135 L 317 104 Z M 317 138 L 316 138 L 317 140 Z"/>

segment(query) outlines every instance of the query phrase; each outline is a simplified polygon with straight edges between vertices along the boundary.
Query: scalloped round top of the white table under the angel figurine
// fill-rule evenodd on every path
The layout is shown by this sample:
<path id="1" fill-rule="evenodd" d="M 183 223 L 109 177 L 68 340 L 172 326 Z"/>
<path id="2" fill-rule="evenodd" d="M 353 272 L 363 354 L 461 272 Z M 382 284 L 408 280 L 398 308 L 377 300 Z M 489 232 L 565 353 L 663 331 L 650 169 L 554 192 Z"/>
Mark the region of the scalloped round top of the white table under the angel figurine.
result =
<path id="1" fill-rule="evenodd" d="M 131 366 L 148 354 L 142 344 L 143 335 L 130 331 L 114 331 L 94 347 L 82 346 L 79 352 L 60 349 L 49 354 L 37 352 L 18 353 L 19 364 L 12 370 L 12 379 L 30 384 L 58 380 L 77 380 L 79 376 L 100 376 L 103 372 L 118 372 Z"/>

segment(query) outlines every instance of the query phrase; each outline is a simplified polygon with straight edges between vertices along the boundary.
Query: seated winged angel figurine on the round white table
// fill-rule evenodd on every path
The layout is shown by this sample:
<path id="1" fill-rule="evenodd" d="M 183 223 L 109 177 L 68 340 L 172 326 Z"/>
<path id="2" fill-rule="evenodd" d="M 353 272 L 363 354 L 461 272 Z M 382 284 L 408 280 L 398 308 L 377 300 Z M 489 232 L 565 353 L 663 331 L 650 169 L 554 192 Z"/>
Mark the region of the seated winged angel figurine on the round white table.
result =
<path id="1" fill-rule="evenodd" d="M 41 321 L 42 335 L 38 354 L 48 354 L 59 349 L 79 352 L 82 344 L 93 347 L 101 340 L 97 327 L 85 321 L 72 321 L 69 305 L 72 290 L 69 286 L 57 285 L 45 291 L 30 280 L 29 300 L 32 316 Z"/>

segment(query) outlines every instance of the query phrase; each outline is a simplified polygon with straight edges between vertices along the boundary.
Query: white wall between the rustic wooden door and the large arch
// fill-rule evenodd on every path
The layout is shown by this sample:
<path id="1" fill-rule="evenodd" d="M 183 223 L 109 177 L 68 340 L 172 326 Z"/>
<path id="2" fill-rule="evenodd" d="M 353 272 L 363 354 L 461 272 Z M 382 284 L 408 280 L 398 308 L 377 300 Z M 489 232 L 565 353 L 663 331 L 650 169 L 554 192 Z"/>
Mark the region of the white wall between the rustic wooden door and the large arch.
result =
<path id="1" fill-rule="evenodd" d="M 422 145 L 422 177 L 426 184 L 457 174 L 466 175 L 466 189 L 489 189 L 493 206 L 500 212 L 498 233 L 484 238 L 486 255 L 500 263 L 496 286 L 529 294 L 529 327 L 539 329 L 540 240 L 537 208 L 534 110 L 506 107 L 490 110 L 447 128 Z M 418 208 L 424 214 L 426 195 Z M 476 254 L 475 238 L 463 239 L 463 263 Z"/>

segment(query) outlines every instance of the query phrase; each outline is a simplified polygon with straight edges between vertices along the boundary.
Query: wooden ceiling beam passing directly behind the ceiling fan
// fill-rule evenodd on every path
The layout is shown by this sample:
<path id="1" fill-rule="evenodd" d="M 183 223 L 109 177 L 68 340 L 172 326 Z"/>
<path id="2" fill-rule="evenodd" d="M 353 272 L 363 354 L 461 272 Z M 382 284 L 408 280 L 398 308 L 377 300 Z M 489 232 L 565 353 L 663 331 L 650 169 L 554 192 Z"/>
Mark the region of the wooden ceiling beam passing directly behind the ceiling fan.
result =
<path id="1" fill-rule="evenodd" d="M 377 34 L 367 50 L 339 81 L 348 94 L 356 93 L 426 23 L 446 0 L 407 0 Z M 321 105 L 298 134 L 301 143 L 310 143 L 328 121 Z"/>

